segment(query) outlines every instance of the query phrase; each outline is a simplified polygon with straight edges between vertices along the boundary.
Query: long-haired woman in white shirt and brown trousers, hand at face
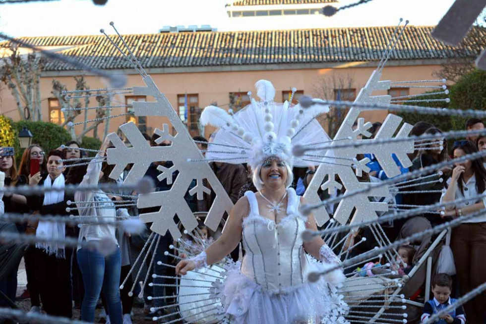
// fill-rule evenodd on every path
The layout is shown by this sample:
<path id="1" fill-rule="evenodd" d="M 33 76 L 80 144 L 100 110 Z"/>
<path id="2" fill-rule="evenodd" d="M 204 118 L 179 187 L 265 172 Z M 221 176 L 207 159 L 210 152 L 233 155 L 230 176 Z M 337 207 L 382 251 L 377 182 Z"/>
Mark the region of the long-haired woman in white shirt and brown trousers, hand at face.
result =
<path id="1" fill-rule="evenodd" d="M 476 145 L 470 141 L 454 143 L 453 158 L 477 153 Z M 462 198 L 474 198 L 448 208 L 443 217 L 461 217 L 485 209 L 486 198 L 478 197 L 486 189 L 486 169 L 483 159 L 466 160 L 455 164 L 452 176 L 447 180 L 447 191 L 440 201 L 452 202 Z M 461 295 L 486 282 L 486 215 L 464 220 L 452 230 L 451 244 Z M 464 305 L 468 323 L 485 323 L 486 292 Z"/>

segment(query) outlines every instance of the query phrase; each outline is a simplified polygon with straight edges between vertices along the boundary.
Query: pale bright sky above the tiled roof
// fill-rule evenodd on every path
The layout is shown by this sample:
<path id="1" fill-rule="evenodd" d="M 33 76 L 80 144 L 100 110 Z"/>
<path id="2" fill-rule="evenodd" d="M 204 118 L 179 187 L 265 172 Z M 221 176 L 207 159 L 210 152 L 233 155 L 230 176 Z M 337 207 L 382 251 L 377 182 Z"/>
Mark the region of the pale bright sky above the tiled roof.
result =
<path id="1" fill-rule="evenodd" d="M 337 5 L 356 2 L 341 0 Z M 122 34 L 158 33 L 165 25 L 211 25 L 218 31 L 238 30 L 226 13 L 231 0 L 91 0 L 39 1 L 0 4 L 0 31 L 10 36 L 62 36 L 99 34 L 114 21 Z M 396 25 L 400 17 L 411 25 L 435 25 L 454 0 L 373 0 L 338 12 L 320 15 L 313 28 Z M 271 29 L 271 24 L 259 28 Z M 289 20 L 290 28 L 298 28 Z"/>

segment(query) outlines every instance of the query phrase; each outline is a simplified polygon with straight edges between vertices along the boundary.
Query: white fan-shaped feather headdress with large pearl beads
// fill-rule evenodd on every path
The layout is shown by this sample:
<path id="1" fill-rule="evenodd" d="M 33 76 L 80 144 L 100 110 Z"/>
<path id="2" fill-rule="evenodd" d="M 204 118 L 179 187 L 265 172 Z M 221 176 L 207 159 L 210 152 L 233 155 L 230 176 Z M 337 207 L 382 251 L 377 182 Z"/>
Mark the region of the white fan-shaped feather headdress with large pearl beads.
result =
<path id="1" fill-rule="evenodd" d="M 294 157 L 295 145 L 322 145 L 330 141 L 321 125 L 315 120 L 320 113 L 329 111 L 328 106 L 313 105 L 302 108 L 275 103 L 272 83 L 260 80 L 255 84 L 260 101 L 251 104 L 234 115 L 226 110 L 208 106 L 201 114 L 203 125 L 220 128 L 208 146 L 206 159 L 228 163 L 249 163 L 254 169 L 259 163 L 276 157 L 292 166 L 317 165 L 329 161 L 326 152 L 315 152 L 312 157 Z"/>

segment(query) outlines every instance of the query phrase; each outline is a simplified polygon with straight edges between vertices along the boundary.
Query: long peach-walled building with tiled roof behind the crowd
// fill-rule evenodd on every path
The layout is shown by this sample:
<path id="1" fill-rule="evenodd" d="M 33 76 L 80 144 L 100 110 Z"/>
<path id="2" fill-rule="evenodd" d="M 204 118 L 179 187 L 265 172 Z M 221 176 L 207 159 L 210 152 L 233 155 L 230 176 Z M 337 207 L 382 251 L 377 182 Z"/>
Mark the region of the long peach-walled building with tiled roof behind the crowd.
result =
<path id="1" fill-rule="evenodd" d="M 326 28 L 276 31 L 232 32 L 163 32 L 124 35 L 154 82 L 184 119 L 192 135 L 198 134 L 198 115 L 202 108 L 217 104 L 238 108 L 248 103 L 248 91 L 254 91 L 259 79 L 273 82 L 276 98 L 289 98 L 297 88 L 295 99 L 303 94 L 316 98 L 354 100 L 375 69 L 396 27 Z M 429 80 L 443 64 L 457 58 L 473 60 L 485 48 L 486 30 L 478 28 L 474 37 L 454 48 L 430 36 L 431 26 L 408 26 L 390 55 L 382 80 Z M 112 38 L 121 44 L 115 37 Z M 103 36 L 24 37 L 23 42 L 79 60 L 110 73 L 127 75 L 127 87 L 143 84 L 130 64 Z M 0 43 L 4 49 L 8 42 Z M 20 49 L 26 51 L 25 49 Z M 52 95 L 53 78 L 74 89 L 74 76 L 84 75 L 91 89 L 104 88 L 106 80 L 79 71 L 59 60 L 48 61 L 41 77 L 41 104 L 46 121 L 62 123 L 60 104 Z M 376 95 L 406 96 L 426 91 L 422 88 L 397 88 L 377 91 Z M 0 88 L 0 113 L 18 119 L 15 98 L 7 87 Z M 113 103 L 151 100 L 131 94 L 116 95 Z M 89 106 L 96 106 L 91 100 Z M 128 108 L 117 108 L 117 114 Z M 115 112 L 114 112 L 115 114 Z M 367 111 L 366 121 L 383 121 L 385 111 Z M 96 110 L 88 112 L 96 118 Z M 151 134 L 162 117 L 120 116 L 111 119 L 110 130 L 120 124 L 135 122 Z M 82 125 L 76 126 L 82 129 Z M 103 132 L 99 126 L 99 133 Z M 206 129 L 208 136 L 212 129 Z"/>

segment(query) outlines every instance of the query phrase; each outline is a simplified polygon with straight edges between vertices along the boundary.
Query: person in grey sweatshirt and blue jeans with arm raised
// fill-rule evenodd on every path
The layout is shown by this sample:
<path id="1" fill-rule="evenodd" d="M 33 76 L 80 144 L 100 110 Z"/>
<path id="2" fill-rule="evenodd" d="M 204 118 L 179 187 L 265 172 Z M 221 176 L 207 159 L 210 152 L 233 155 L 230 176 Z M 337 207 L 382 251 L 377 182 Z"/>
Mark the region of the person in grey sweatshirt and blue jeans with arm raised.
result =
<path id="1" fill-rule="evenodd" d="M 74 201 L 81 202 L 77 207 L 79 216 L 89 216 L 104 220 L 117 220 L 120 216 L 128 216 L 126 209 L 116 209 L 113 201 L 119 200 L 119 196 L 114 196 L 102 190 L 91 191 L 82 190 L 85 186 L 95 186 L 99 182 L 115 183 L 109 178 L 113 171 L 113 165 L 108 165 L 104 160 L 106 149 L 110 141 L 105 139 L 99 153 L 91 160 L 83 180 L 79 184 L 80 191 L 74 195 Z M 86 205 L 89 202 L 89 205 Z M 87 208 L 88 207 L 88 208 Z M 112 324 L 122 324 L 122 303 L 120 300 L 120 272 L 122 261 L 120 247 L 115 235 L 116 227 L 109 223 L 82 224 L 79 230 L 78 242 L 87 243 L 77 250 L 77 261 L 84 283 L 84 299 L 81 305 L 81 320 L 93 322 L 95 308 L 100 292 L 103 290 L 110 322 Z M 112 252 L 102 253 L 107 249 Z"/>

